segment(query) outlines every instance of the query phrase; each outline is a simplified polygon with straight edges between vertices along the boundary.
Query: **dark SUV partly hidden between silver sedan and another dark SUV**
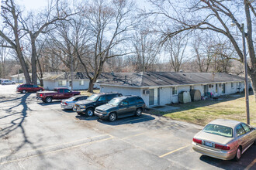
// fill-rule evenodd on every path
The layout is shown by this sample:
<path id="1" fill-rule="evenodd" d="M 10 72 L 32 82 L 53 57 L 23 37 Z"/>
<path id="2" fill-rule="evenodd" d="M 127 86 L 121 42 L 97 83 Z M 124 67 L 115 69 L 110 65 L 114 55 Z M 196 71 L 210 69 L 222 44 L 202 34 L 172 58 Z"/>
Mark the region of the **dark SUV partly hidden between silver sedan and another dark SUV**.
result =
<path id="1" fill-rule="evenodd" d="M 107 104 L 115 97 L 121 97 L 121 93 L 94 93 L 88 97 L 87 100 L 81 100 L 74 104 L 73 110 L 78 114 L 85 113 L 91 117 L 94 115 L 95 107 L 99 107 L 102 104 Z"/>

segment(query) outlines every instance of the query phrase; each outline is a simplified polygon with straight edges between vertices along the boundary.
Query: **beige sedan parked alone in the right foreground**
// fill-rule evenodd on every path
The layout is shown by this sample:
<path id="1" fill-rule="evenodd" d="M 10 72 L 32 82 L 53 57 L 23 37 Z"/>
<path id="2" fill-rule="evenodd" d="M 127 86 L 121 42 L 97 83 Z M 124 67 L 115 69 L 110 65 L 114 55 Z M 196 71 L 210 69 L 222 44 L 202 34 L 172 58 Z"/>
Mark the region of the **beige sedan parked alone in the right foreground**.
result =
<path id="1" fill-rule="evenodd" d="M 256 145 L 256 130 L 240 121 L 217 119 L 195 134 L 193 150 L 213 158 L 240 160 L 251 145 Z"/>

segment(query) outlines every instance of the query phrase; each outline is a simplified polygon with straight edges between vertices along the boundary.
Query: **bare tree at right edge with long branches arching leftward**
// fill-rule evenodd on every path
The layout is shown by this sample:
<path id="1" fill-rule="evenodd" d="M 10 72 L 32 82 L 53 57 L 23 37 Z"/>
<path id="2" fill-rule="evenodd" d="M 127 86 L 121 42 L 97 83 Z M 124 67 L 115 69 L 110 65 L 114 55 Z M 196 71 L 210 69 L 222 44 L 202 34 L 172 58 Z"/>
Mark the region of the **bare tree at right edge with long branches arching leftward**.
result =
<path id="1" fill-rule="evenodd" d="M 150 14 L 157 15 L 164 19 L 164 22 L 171 23 L 171 28 L 164 27 L 164 23 L 162 23 L 163 26 L 157 25 L 159 26 L 158 31 L 162 33 L 163 42 L 180 32 L 191 29 L 210 30 L 227 37 L 234 46 L 240 62 L 243 63 L 241 38 L 237 36 L 237 32 L 233 31 L 234 29 L 230 29 L 230 22 L 234 21 L 236 23 L 240 35 L 245 31 L 248 56 L 250 57 L 247 62 L 248 75 L 251 79 L 256 101 L 256 57 L 253 42 L 255 36 L 253 34 L 254 25 L 251 21 L 251 15 L 254 16 L 253 19 L 256 16 L 255 1 L 190 0 L 184 3 L 180 2 L 179 5 L 170 0 L 150 0 L 150 2 L 157 7 L 157 11 L 150 12 Z M 244 21 L 247 30 L 243 30 L 241 22 Z"/>

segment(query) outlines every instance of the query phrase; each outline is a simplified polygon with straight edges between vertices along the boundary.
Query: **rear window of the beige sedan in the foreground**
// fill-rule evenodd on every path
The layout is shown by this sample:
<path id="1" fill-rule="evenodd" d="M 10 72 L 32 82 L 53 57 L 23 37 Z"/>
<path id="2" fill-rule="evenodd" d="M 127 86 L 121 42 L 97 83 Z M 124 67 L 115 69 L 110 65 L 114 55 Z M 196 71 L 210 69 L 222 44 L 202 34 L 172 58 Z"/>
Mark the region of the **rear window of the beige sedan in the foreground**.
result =
<path id="1" fill-rule="evenodd" d="M 232 138 L 233 130 L 230 127 L 222 126 L 220 124 L 207 124 L 205 128 L 203 128 L 204 132 L 209 134 L 217 134 L 220 136 Z"/>

